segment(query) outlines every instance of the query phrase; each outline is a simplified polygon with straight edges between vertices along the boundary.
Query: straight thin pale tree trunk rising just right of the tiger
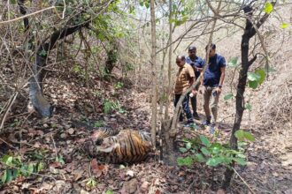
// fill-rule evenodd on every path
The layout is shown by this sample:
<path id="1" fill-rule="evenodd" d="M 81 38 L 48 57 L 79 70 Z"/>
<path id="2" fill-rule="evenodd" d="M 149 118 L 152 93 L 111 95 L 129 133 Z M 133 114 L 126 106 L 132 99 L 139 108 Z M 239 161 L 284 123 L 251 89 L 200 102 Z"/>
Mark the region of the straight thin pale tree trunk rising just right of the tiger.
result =
<path id="1" fill-rule="evenodd" d="M 152 116 L 151 116 L 151 142 L 156 149 L 156 127 L 157 127 L 157 71 L 156 71 L 156 19 L 154 0 L 150 0 L 151 15 L 151 69 L 152 69 Z"/>

